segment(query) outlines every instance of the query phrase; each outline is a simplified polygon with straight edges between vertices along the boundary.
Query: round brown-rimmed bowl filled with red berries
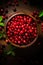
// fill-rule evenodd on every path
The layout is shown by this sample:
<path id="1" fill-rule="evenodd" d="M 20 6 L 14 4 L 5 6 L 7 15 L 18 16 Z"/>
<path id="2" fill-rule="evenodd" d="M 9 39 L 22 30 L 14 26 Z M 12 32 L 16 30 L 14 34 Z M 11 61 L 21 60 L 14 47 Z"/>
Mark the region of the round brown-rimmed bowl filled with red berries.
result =
<path id="1" fill-rule="evenodd" d="M 17 18 L 18 17 L 18 18 Z M 21 18 L 20 18 L 21 17 Z M 26 48 L 26 47 L 29 47 L 29 46 L 31 46 L 32 44 L 34 44 L 35 42 L 36 42 L 36 40 L 37 40 L 37 38 L 38 38 L 38 30 L 37 30 L 37 23 L 36 23 L 36 21 L 33 19 L 33 18 L 31 18 L 32 19 L 32 22 L 30 21 L 30 23 L 29 23 L 29 21 L 27 20 L 27 19 L 25 19 L 25 18 L 28 18 L 28 20 L 29 20 L 29 18 L 31 18 L 29 15 L 27 15 L 27 14 L 24 14 L 24 13 L 17 13 L 17 14 L 14 14 L 14 15 L 12 15 L 8 20 L 7 20 L 7 23 L 6 23 L 6 35 L 7 35 L 7 38 L 9 39 L 9 41 L 11 42 L 11 44 L 13 45 L 13 46 L 16 46 L 16 47 L 19 47 L 19 48 Z M 18 20 L 19 19 L 21 19 L 21 20 Z M 22 21 L 22 22 L 21 22 Z M 27 23 L 25 23 L 25 22 L 27 22 L 28 21 L 28 24 Z M 15 23 L 16 22 L 16 23 Z M 19 24 L 17 24 L 17 22 L 19 23 Z M 14 23 L 14 25 L 13 25 L 13 23 Z M 24 37 L 23 36 L 25 36 L 24 34 L 25 33 L 27 33 L 27 31 L 26 32 L 24 32 L 24 33 L 21 33 L 21 29 L 20 29 L 20 32 L 16 32 L 16 34 L 15 34 L 15 30 L 16 30 L 16 27 L 18 27 L 17 28 L 17 30 L 16 31 L 18 31 L 18 29 L 19 29 L 19 26 L 20 26 L 20 23 L 23 23 L 23 25 L 24 25 L 24 23 L 25 23 L 25 25 L 27 25 L 27 29 L 28 29 L 28 27 L 30 26 L 30 27 L 35 27 L 34 28 L 34 31 L 36 30 L 36 36 L 33 36 L 34 35 L 34 31 L 32 32 L 32 31 L 30 31 L 30 29 L 28 29 L 28 35 L 27 35 L 27 37 L 25 37 L 25 40 L 24 40 Z M 33 25 L 33 23 L 36 25 L 36 26 L 34 26 Z M 18 25 L 18 26 L 17 26 Z M 22 24 L 21 24 L 22 25 Z M 13 28 L 13 27 L 14 28 Z M 15 27 L 16 26 L 16 27 Z M 12 31 L 11 31 L 11 28 L 10 27 L 12 27 Z M 33 28 L 32 27 L 32 28 Z M 10 32 L 13 32 L 12 33 L 12 35 L 11 35 L 11 33 L 10 32 L 8 32 L 9 31 L 9 28 L 10 28 Z M 22 27 L 23 28 L 23 27 Z M 26 26 L 24 27 L 24 29 L 26 28 Z M 27 30 L 26 29 L 26 30 Z M 7 34 L 7 33 L 9 33 L 9 35 Z M 21 34 L 20 34 L 21 33 Z M 29 37 L 29 35 L 30 35 L 30 37 Z M 17 38 L 19 38 L 19 36 L 21 36 L 20 37 L 20 40 L 22 40 L 22 41 L 15 41 L 15 39 L 16 39 L 16 37 Z M 33 37 L 34 38 L 33 38 Z M 11 38 L 11 39 L 10 39 Z M 27 41 L 27 39 L 28 39 L 28 41 Z M 13 40 L 13 41 L 12 41 Z M 17 39 L 16 39 L 17 40 Z M 24 41 L 23 41 L 24 40 Z M 32 41 L 30 41 L 30 40 L 32 40 Z M 26 42 L 25 42 L 26 41 Z"/>

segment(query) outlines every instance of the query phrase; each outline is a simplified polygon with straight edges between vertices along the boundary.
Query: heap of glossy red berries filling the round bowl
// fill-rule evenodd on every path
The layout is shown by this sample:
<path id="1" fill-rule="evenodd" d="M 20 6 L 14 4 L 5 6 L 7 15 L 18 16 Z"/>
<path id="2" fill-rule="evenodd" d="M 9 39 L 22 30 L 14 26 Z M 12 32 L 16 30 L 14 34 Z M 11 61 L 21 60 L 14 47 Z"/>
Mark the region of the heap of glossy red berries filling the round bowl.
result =
<path id="1" fill-rule="evenodd" d="M 37 37 L 37 25 L 30 16 L 18 14 L 8 21 L 6 32 L 13 44 L 27 45 Z"/>

